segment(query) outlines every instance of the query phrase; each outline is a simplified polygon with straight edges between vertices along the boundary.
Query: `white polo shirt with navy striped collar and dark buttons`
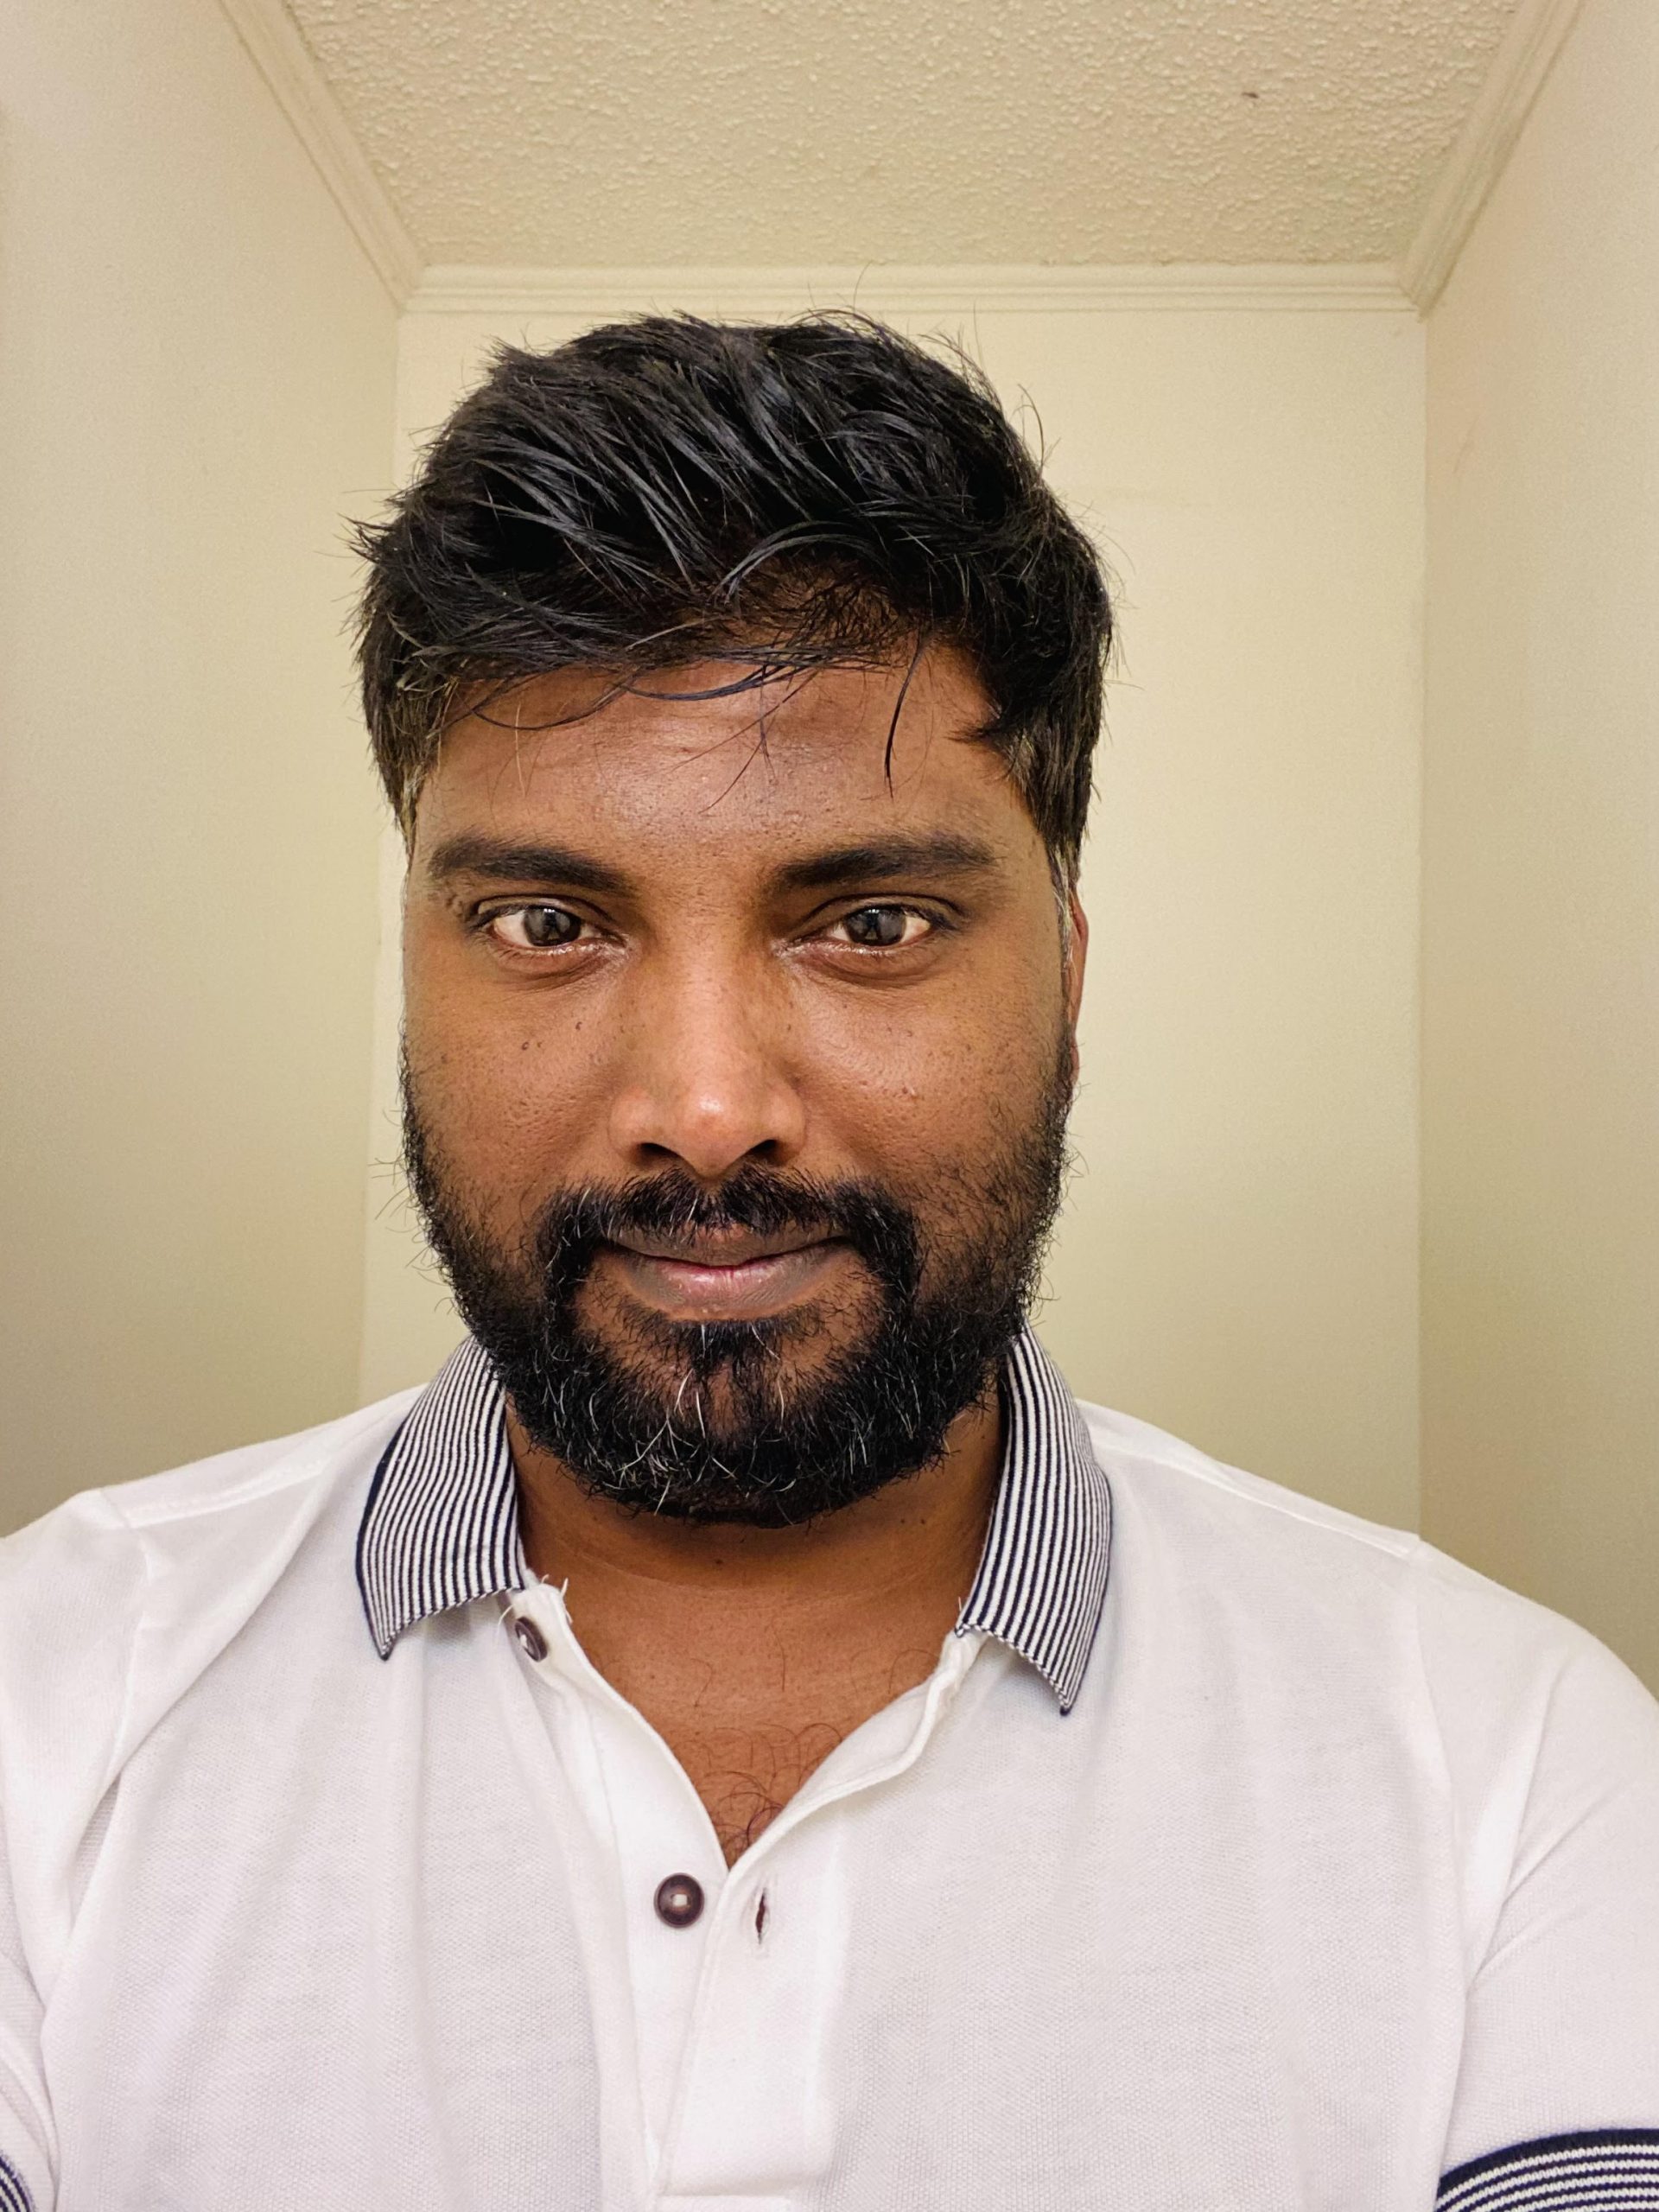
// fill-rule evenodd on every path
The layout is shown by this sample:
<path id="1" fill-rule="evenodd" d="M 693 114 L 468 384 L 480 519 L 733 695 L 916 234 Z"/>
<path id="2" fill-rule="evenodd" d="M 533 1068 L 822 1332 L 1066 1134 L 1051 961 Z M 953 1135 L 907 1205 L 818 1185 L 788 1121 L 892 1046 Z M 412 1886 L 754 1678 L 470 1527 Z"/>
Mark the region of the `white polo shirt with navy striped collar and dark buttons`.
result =
<path id="1" fill-rule="evenodd" d="M 1659 2205 L 1652 1699 L 1031 1338 L 1004 1416 L 730 1871 L 476 1347 L 0 1544 L 0 2212 Z"/>

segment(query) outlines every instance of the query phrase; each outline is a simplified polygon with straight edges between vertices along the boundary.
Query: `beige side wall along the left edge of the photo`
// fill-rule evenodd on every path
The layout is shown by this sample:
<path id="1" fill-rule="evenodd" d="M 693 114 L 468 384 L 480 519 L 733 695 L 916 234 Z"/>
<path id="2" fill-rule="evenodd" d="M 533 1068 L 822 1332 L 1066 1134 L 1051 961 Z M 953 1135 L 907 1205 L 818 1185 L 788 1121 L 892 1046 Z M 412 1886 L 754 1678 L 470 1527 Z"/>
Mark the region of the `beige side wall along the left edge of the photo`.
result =
<path id="1" fill-rule="evenodd" d="M 354 1400 L 396 319 L 212 0 L 0 86 L 2 1528 Z"/>

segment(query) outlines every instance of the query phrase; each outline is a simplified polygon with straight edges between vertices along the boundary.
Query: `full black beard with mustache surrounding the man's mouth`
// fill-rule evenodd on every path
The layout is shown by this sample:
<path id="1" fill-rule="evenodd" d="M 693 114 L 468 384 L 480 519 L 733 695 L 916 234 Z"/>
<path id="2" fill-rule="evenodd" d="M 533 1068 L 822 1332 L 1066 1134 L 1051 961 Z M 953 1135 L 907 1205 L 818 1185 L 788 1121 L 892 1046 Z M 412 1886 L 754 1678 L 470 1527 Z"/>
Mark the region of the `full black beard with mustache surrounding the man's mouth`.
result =
<path id="1" fill-rule="evenodd" d="M 743 1166 L 717 1190 L 670 1168 L 617 1190 L 562 1192 L 524 1248 L 504 1252 L 442 1170 L 407 1062 L 405 1168 L 456 1305 L 531 1442 L 615 1504 L 787 1526 L 929 1467 L 991 1387 L 1060 1210 L 1068 1102 L 1071 1037 L 1035 1126 L 958 1186 L 942 1223 L 958 1234 L 931 1248 L 916 1214 L 872 1181 Z M 721 1323 L 639 1307 L 622 1347 L 584 1327 L 577 1296 L 602 1245 L 714 1230 L 838 1237 L 863 1261 L 847 1340 L 816 1371 L 792 1376 L 790 1349 L 818 1336 L 823 1301 Z"/>

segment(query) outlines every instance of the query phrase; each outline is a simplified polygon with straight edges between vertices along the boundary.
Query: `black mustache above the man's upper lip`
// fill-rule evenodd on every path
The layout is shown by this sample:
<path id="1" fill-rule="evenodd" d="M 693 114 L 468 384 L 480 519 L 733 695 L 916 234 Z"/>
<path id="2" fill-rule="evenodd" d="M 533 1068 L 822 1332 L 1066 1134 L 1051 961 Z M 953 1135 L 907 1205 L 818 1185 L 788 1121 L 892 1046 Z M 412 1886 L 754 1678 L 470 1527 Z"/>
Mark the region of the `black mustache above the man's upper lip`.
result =
<path id="1" fill-rule="evenodd" d="M 624 1237 L 690 1239 L 730 1230 L 836 1237 L 891 1290 L 909 1292 L 920 1279 L 916 1217 L 891 1192 L 869 1181 L 827 1183 L 754 1164 L 714 1188 L 684 1168 L 666 1168 L 615 1188 L 588 1183 L 560 1192 L 535 1221 L 533 1252 L 549 1287 L 568 1294 L 599 1248 Z"/>

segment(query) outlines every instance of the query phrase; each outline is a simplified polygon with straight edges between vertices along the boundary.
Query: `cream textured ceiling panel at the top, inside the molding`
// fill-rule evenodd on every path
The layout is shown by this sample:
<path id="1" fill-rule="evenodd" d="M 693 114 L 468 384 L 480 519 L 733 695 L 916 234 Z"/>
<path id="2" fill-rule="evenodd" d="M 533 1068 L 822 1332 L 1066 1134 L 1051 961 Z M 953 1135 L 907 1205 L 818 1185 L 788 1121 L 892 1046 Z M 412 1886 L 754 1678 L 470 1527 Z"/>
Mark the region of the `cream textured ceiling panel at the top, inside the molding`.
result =
<path id="1" fill-rule="evenodd" d="M 429 261 L 1383 261 L 1515 0 L 290 0 Z"/>

